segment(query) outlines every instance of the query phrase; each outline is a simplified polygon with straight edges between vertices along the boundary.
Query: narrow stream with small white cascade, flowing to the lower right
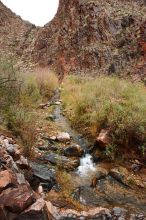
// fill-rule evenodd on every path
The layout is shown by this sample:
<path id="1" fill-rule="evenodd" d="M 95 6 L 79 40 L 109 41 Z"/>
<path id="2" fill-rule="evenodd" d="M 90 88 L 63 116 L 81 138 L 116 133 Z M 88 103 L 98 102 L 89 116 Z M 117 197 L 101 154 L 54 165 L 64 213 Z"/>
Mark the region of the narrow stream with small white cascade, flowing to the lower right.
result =
<path id="1" fill-rule="evenodd" d="M 59 101 L 59 91 L 56 92 L 53 102 Z M 94 191 L 90 185 L 92 177 L 97 173 L 97 165 L 93 163 L 92 156 L 88 149 L 90 143 L 81 134 L 75 131 L 69 120 L 63 115 L 62 105 L 55 105 L 54 110 L 55 123 L 62 132 L 67 132 L 72 137 L 72 143 L 80 145 L 84 150 L 84 155 L 80 158 L 80 165 L 75 172 L 71 172 L 72 184 L 79 189 L 79 200 L 83 204 L 90 204 L 93 206 L 111 206 L 123 205 L 126 209 L 137 212 L 146 212 L 144 193 L 132 191 L 129 188 L 121 185 L 115 179 L 108 176 L 100 180 L 98 183 L 98 190 Z M 99 166 L 99 165 L 98 165 Z M 138 195 L 137 195 L 138 193 Z"/>

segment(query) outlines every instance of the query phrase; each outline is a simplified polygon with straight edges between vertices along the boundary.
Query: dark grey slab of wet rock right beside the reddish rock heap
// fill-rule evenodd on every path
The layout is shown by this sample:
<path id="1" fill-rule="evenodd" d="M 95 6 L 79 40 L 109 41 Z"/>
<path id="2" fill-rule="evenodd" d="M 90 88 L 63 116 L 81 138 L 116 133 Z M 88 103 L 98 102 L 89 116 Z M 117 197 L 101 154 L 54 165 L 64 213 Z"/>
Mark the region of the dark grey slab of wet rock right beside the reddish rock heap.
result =
<path id="1" fill-rule="evenodd" d="M 31 163 L 33 176 L 38 178 L 45 190 L 49 191 L 56 184 L 55 170 L 49 169 L 47 165 Z"/>

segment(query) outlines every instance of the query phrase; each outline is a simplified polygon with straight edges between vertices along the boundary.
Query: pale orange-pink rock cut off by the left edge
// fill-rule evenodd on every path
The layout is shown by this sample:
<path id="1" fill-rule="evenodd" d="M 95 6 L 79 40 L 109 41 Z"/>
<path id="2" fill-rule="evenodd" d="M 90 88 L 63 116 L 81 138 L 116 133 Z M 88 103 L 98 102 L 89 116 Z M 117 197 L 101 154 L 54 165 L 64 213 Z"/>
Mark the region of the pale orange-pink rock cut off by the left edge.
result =
<path id="1" fill-rule="evenodd" d="M 10 170 L 0 172 L 0 192 L 16 185 L 16 176 Z"/>

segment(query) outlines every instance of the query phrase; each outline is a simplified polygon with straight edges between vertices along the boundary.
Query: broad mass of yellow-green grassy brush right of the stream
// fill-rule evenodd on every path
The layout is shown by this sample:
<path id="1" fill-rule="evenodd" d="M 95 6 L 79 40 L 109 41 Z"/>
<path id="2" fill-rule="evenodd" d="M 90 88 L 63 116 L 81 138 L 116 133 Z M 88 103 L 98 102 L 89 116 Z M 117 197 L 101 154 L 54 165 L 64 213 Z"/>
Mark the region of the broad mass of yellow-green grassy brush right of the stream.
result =
<path id="1" fill-rule="evenodd" d="M 145 143 L 146 89 L 142 83 L 116 77 L 78 80 L 69 76 L 62 98 L 73 124 L 88 127 L 90 135 L 108 128 L 113 145 Z"/>

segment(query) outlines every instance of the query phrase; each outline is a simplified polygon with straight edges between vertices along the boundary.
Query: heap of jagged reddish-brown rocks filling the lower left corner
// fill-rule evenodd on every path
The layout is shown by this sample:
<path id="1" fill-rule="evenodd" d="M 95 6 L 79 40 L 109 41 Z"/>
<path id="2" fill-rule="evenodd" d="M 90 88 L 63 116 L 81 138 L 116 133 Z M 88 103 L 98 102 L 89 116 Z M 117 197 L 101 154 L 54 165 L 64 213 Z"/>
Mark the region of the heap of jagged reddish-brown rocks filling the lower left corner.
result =
<path id="1" fill-rule="evenodd" d="M 11 141 L 12 138 L 0 135 L 0 219 L 46 220 L 48 214 L 45 201 L 32 190 L 24 176 L 23 169 L 26 168 L 27 159 L 24 161 L 25 166 L 22 166 L 19 149 L 15 144 L 11 144 Z M 8 152 L 8 145 L 14 148 L 13 157 Z M 15 159 L 17 160 L 18 156 L 17 163 Z"/>

